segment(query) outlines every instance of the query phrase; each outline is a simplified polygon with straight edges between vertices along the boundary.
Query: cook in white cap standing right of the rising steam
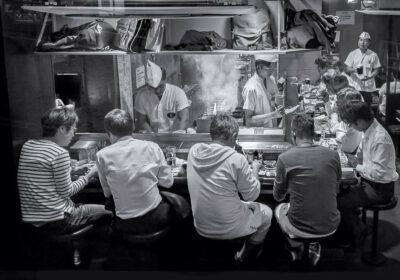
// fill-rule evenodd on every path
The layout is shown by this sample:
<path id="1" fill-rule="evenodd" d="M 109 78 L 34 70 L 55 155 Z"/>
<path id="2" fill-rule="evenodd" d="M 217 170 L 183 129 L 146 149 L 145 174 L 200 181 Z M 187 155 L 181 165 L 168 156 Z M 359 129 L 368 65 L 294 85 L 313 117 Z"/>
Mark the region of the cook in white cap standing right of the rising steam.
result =
<path id="1" fill-rule="evenodd" d="M 273 127 L 272 118 L 281 117 L 279 111 L 273 111 L 275 107 L 275 95 L 278 94 L 278 86 L 272 76 L 277 55 L 255 55 L 256 72 L 243 87 L 246 126 Z"/>

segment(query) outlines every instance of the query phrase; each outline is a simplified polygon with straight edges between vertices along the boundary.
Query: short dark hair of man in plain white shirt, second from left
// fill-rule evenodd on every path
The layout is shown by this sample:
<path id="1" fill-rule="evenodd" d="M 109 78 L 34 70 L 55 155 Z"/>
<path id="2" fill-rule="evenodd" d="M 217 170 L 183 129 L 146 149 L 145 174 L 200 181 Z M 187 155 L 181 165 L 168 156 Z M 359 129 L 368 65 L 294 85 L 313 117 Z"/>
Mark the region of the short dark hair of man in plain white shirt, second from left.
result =
<path id="1" fill-rule="evenodd" d="M 104 129 L 117 137 L 129 136 L 133 133 L 132 117 L 122 109 L 113 109 L 104 117 Z"/>

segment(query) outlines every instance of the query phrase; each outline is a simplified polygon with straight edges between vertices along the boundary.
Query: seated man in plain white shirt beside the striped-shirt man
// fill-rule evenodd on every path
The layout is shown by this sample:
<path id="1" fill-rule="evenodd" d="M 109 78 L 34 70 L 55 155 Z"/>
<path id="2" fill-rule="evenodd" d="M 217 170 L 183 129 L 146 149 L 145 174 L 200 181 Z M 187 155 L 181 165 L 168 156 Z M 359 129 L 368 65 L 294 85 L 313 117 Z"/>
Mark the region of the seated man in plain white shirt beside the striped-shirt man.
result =
<path id="1" fill-rule="evenodd" d="M 156 143 L 134 139 L 132 118 L 121 109 L 105 116 L 104 128 L 111 145 L 97 153 L 96 165 L 104 196 L 115 204 L 115 229 L 148 234 L 179 219 L 174 213 L 185 217 L 190 211 L 186 200 L 158 189 L 158 185 L 170 188 L 174 182 L 161 148 Z M 185 209 L 174 211 L 168 203 L 171 196 Z"/>

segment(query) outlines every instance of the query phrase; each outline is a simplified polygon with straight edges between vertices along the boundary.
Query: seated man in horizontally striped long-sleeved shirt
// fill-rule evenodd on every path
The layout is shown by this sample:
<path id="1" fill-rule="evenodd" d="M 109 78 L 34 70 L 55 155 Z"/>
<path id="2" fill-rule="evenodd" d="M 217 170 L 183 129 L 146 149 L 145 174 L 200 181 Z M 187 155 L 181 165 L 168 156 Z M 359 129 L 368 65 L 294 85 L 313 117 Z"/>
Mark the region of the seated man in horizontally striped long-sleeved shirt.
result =
<path id="1" fill-rule="evenodd" d="M 22 147 L 18 166 L 18 189 L 22 221 L 49 234 L 70 233 L 102 216 L 112 215 L 103 205 L 75 204 L 71 197 L 97 174 L 96 166 L 71 180 L 71 160 L 63 147 L 71 142 L 78 116 L 72 107 L 47 111 L 42 117 L 41 139 Z"/>

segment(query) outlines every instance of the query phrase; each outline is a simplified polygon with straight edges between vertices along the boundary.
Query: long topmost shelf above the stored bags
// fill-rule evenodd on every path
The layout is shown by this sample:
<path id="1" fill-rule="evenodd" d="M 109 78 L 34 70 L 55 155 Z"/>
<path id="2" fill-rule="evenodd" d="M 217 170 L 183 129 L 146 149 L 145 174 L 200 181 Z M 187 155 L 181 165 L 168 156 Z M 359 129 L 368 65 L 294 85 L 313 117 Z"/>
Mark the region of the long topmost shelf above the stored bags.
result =
<path id="1" fill-rule="evenodd" d="M 253 6 L 194 6 L 194 7 L 66 7 L 22 6 L 22 9 L 74 17 L 151 17 L 177 18 L 194 16 L 233 17 L 254 11 Z"/>

